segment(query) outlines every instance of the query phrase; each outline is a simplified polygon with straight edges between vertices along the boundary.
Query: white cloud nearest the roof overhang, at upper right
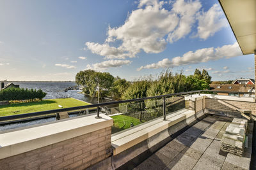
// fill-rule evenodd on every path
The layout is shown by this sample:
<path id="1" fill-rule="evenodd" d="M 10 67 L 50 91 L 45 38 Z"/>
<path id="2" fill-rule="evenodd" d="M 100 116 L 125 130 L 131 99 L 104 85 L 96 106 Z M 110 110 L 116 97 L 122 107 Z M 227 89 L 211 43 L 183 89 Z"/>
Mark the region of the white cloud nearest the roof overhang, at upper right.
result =
<path id="1" fill-rule="evenodd" d="M 221 28 L 227 27 L 227 19 L 219 4 L 214 4 L 207 12 L 202 12 L 198 16 L 198 35 L 199 38 L 207 39 L 213 36 Z"/>

